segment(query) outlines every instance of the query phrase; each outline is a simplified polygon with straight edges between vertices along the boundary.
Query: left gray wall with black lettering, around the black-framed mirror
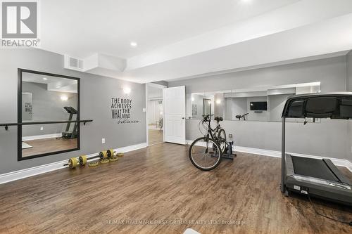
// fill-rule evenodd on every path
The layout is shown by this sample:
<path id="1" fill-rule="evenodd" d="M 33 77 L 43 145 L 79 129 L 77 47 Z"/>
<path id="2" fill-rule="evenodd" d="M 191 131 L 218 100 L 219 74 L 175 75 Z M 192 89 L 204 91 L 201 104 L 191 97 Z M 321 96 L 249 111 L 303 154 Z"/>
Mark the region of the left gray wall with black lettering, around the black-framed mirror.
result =
<path id="1" fill-rule="evenodd" d="M 25 68 L 54 74 L 65 74 L 81 78 L 81 119 L 94 122 L 81 126 L 81 150 L 38 159 L 17 161 L 17 128 L 9 131 L 0 129 L 0 174 L 41 164 L 65 160 L 73 156 L 99 152 L 106 148 L 119 148 L 146 142 L 145 84 L 135 84 L 119 79 L 100 77 L 65 70 L 63 56 L 38 49 L 7 49 L 0 53 L 0 122 L 17 122 L 17 69 Z M 129 95 L 123 93 L 123 86 L 132 89 Z M 132 119 L 137 124 L 117 124 L 111 118 L 111 98 L 132 98 Z M 101 138 L 106 143 L 101 144 Z"/>

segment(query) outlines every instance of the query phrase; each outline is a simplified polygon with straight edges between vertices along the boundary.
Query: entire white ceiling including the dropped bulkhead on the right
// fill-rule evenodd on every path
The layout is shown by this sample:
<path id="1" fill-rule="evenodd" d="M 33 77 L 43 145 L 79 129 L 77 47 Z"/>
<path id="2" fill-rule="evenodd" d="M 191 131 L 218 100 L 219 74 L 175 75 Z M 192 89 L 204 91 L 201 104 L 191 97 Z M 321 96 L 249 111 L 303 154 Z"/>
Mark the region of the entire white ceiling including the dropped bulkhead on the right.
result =
<path id="1" fill-rule="evenodd" d="M 97 53 L 121 58 L 122 71 L 99 66 L 86 71 L 133 82 L 324 58 L 352 48 L 351 0 L 45 0 L 41 5 L 44 50 L 81 59 Z"/>

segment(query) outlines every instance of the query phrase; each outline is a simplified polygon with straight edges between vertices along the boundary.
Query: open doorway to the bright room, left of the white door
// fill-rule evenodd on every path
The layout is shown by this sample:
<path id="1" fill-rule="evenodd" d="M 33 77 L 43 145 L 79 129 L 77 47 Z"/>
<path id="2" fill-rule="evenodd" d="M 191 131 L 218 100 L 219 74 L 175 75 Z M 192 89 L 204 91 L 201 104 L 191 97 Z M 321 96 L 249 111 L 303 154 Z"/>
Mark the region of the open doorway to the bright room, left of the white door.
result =
<path id="1" fill-rule="evenodd" d="M 148 145 L 163 142 L 163 88 L 166 88 L 166 86 L 153 83 L 146 84 Z"/>

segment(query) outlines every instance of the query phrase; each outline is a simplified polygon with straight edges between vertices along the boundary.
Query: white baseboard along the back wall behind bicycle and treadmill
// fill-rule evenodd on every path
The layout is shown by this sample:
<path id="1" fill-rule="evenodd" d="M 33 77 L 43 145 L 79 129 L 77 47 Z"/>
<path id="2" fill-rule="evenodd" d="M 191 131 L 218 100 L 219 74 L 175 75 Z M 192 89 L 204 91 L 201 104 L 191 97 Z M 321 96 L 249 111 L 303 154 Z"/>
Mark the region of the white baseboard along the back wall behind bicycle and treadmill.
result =
<path id="1" fill-rule="evenodd" d="M 187 144 L 191 144 L 193 141 L 187 140 Z M 249 147 L 243 147 L 243 146 L 234 146 L 233 148 L 234 151 L 237 152 L 246 152 L 249 154 L 253 155 L 263 155 L 263 156 L 269 156 L 269 157 L 281 157 L 281 151 L 275 151 L 275 150 L 263 150 L 263 149 L 258 149 L 258 148 L 249 148 Z M 315 156 L 315 155 L 303 155 L 303 154 L 298 154 L 295 152 L 287 152 L 289 154 L 299 156 L 299 157 L 311 157 L 311 158 L 317 158 L 317 159 L 322 159 L 322 158 L 328 158 L 329 160 L 332 160 L 332 162 L 339 166 L 339 167 L 346 167 L 348 170 L 352 172 L 352 162 L 348 160 L 341 160 L 339 158 L 334 158 L 334 157 L 321 157 L 321 156 Z"/>

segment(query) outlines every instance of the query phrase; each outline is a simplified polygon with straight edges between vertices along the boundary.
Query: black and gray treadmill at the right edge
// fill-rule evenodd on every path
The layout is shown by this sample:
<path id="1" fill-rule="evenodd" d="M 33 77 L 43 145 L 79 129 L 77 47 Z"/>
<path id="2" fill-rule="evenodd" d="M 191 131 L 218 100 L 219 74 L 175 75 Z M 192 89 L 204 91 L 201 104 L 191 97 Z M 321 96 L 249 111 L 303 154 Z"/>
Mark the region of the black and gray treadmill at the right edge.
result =
<path id="1" fill-rule="evenodd" d="M 301 157 L 285 151 L 287 118 L 352 119 L 352 92 L 291 96 L 282 112 L 281 191 L 301 193 L 352 206 L 352 182 L 326 158 Z M 305 120 L 304 124 L 307 121 Z"/>

